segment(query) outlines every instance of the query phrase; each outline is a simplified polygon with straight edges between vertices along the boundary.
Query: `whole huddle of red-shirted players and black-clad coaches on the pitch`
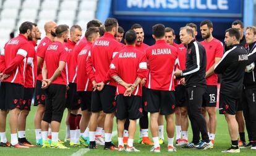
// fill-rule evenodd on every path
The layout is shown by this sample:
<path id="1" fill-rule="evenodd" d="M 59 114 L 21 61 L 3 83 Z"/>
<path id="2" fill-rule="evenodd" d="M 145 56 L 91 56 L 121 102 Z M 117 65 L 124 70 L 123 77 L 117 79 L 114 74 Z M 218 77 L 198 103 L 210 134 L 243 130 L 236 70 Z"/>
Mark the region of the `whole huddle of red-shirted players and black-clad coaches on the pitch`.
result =
<path id="1" fill-rule="evenodd" d="M 201 42 L 195 38 L 197 25 L 188 23 L 180 28 L 181 44 L 176 44 L 174 30 L 156 24 L 152 46 L 143 43 L 140 24 L 124 32 L 115 18 L 107 18 L 104 25 L 98 20 L 88 22 L 84 37 L 79 25 L 69 28 L 49 21 L 44 28 L 46 37 L 41 39 L 35 23 L 23 22 L 19 36 L 1 51 L 0 146 L 69 149 L 64 145 L 69 142 L 70 147 L 96 149 L 100 145 L 106 150 L 140 152 L 134 147 L 139 120 L 139 143 L 160 152 L 165 118 L 168 152 L 177 151 L 174 143 L 207 150 L 218 144 L 216 101 L 221 74 L 219 110 L 231 138 L 231 147 L 222 152 L 256 149 L 256 27 L 245 28 L 244 35 L 243 23 L 234 21 L 225 32 L 223 45 L 213 37 L 210 20 L 200 23 Z M 36 145 L 25 135 L 32 99 L 37 106 Z M 62 142 L 58 135 L 65 109 L 66 138 Z M 6 138 L 7 113 L 11 142 Z M 117 147 L 112 142 L 114 122 Z"/>

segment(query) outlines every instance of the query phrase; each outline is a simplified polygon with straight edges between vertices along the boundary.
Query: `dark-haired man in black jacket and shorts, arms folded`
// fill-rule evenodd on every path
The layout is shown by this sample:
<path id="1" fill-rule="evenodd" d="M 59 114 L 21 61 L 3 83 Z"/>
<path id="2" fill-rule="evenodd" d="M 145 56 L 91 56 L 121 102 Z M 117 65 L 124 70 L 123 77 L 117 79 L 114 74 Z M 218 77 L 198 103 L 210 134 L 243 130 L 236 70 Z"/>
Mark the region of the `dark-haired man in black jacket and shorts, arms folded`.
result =
<path id="1" fill-rule="evenodd" d="M 236 121 L 237 102 L 241 97 L 244 71 L 247 65 L 247 52 L 239 44 L 239 31 L 236 28 L 226 30 L 225 43 L 231 46 L 215 66 L 215 73 L 222 74 L 220 87 L 220 113 L 224 113 L 231 136 L 231 148 L 223 152 L 240 152 L 238 147 L 238 125 Z"/>

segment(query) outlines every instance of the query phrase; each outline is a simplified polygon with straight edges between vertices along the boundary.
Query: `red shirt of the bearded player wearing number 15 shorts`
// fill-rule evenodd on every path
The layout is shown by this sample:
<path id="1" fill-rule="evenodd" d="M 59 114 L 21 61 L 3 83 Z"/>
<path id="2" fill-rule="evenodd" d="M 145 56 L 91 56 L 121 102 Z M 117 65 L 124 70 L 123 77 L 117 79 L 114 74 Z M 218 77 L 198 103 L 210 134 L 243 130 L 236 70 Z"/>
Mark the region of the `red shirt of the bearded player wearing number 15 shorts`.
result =
<path id="1" fill-rule="evenodd" d="M 206 71 L 211 68 L 213 64 L 215 64 L 215 58 L 219 57 L 221 58 L 223 56 L 223 43 L 219 41 L 218 39 L 211 39 L 210 42 L 202 41 L 200 42 L 203 47 L 205 47 L 205 52 L 207 55 L 207 68 Z M 217 85 L 218 84 L 218 75 L 216 73 L 213 73 L 213 75 L 208 76 L 206 78 L 207 85 Z"/>

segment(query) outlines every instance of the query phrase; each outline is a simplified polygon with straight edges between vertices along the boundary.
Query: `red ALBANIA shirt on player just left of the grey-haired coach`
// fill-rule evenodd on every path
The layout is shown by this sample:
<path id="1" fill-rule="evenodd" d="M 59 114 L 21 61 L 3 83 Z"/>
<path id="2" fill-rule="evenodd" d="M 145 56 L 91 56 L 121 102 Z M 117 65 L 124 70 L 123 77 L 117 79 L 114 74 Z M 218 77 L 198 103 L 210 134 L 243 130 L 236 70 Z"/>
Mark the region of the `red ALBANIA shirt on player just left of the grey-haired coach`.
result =
<path id="1" fill-rule="evenodd" d="M 166 43 L 164 39 L 146 49 L 149 62 L 149 75 L 146 88 L 161 91 L 174 91 L 174 65 L 177 48 Z"/>

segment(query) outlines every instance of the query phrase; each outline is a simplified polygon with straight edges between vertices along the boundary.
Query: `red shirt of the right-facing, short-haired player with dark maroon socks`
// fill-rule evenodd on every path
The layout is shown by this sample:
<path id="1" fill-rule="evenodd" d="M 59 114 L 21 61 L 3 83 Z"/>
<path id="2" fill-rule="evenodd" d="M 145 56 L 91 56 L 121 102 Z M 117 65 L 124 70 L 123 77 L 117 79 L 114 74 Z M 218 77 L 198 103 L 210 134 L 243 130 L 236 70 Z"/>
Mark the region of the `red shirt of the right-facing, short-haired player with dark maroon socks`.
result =
<path id="1" fill-rule="evenodd" d="M 75 47 L 75 43 L 70 39 L 67 39 L 67 43 L 64 45 L 68 48 L 69 55 L 67 57 L 67 78 L 69 78 L 69 83 L 77 83 L 77 61 L 75 60 L 73 49 Z"/>

